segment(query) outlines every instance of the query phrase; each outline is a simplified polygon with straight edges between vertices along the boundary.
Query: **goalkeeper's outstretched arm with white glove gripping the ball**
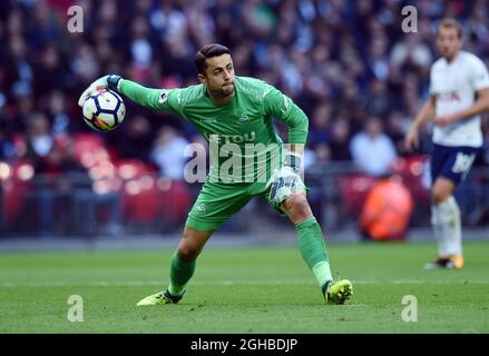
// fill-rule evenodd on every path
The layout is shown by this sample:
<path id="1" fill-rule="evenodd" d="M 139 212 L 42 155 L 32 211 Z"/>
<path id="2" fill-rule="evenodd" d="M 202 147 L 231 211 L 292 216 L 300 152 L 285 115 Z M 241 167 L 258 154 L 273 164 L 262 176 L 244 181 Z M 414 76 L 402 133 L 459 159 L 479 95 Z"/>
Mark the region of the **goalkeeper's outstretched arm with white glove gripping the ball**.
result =
<path id="1" fill-rule="evenodd" d="M 131 80 L 123 79 L 120 76 L 105 76 L 94 81 L 80 96 L 78 105 L 84 106 L 90 93 L 98 89 L 110 89 L 117 91 L 140 106 L 157 110 L 176 110 L 176 101 L 173 91 L 178 89 L 150 89 Z"/>

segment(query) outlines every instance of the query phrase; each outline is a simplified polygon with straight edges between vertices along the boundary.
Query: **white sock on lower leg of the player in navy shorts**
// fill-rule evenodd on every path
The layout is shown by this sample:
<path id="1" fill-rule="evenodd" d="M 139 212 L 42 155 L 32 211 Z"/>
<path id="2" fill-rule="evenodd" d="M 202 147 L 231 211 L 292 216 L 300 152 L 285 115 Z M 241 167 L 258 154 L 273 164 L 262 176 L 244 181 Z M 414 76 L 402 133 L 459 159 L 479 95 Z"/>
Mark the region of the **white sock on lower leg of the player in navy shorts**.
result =
<path id="1" fill-rule="evenodd" d="M 462 255 L 462 227 L 460 209 L 453 196 L 434 206 L 441 228 L 443 256 Z"/>

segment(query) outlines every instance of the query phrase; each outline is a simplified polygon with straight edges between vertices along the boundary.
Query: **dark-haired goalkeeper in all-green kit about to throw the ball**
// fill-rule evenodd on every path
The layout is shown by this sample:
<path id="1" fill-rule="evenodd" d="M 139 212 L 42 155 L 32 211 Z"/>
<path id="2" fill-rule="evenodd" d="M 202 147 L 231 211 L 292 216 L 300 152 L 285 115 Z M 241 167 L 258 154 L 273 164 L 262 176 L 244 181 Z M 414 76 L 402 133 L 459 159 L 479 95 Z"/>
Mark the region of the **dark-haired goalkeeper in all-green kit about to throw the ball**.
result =
<path id="1" fill-rule="evenodd" d="M 201 85 L 184 89 L 148 89 L 111 75 L 91 83 L 78 102 L 82 106 L 90 92 L 109 88 L 144 107 L 184 117 L 211 145 L 211 171 L 172 257 L 169 285 L 137 305 L 178 303 L 208 238 L 255 196 L 265 197 L 288 216 L 297 231 L 302 257 L 325 300 L 343 304 L 352 295 L 352 284 L 348 279 L 333 281 L 323 234 L 312 215 L 306 200 L 307 189 L 300 177 L 307 117 L 288 97 L 266 82 L 236 77 L 232 53 L 224 46 L 204 46 L 195 56 L 195 66 Z M 273 118 L 288 127 L 288 150 L 275 132 Z M 251 154 L 250 147 L 255 147 Z M 222 161 L 228 154 L 234 154 L 233 161 L 239 162 L 234 165 L 231 175 L 223 169 Z M 276 157 L 280 159 L 274 159 Z M 264 165 L 256 165 L 255 158 L 262 158 Z"/>

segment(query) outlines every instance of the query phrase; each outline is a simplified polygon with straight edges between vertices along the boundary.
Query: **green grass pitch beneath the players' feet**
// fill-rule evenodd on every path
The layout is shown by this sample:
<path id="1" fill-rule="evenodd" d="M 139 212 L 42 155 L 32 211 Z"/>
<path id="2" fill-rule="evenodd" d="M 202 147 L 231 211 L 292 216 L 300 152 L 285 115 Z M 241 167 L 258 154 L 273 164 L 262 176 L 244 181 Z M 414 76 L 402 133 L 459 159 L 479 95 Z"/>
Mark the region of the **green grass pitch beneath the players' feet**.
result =
<path id="1" fill-rule="evenodd" d="M 0 255 L 0 333 L 489 333 L 489 244 L 463 270 L 423 270 L 433 244 L 330 244 L 354 296 L 326 306 L 294 247 L 208 248 L 179 305 L 136 307 L 166 285 L 170 250 Z M 84 322 L 67 319 L 70 295 Z M 401 314 L 418 299 L 418 322 Z"/>

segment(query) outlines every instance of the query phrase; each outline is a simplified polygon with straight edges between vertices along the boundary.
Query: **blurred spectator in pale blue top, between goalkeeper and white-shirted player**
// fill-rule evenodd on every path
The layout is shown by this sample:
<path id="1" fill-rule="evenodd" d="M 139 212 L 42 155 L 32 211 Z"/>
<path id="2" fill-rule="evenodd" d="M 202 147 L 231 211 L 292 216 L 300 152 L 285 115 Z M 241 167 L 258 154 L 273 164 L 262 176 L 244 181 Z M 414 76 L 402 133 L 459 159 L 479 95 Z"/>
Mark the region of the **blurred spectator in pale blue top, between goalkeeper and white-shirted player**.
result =
<path id="1" fill-rule="evenodd" d="M 353 161 L 374 177 L 388 174 L 397 157 L 394 145 L 383 132 L 382 122 L 374 117 L 369 118 L 364 130 L 352 138 L 350 150 Z"/>

